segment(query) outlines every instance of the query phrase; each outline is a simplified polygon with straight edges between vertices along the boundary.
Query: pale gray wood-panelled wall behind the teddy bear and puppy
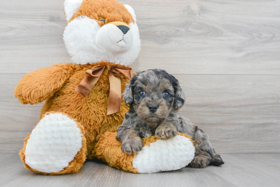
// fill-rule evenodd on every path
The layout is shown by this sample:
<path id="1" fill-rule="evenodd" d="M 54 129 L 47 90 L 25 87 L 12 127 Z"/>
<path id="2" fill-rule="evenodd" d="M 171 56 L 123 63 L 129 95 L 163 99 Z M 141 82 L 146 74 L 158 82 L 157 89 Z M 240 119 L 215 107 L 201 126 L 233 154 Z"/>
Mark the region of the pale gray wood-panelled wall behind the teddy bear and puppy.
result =
<path id="1" fill-rule="evenodd" d="M 39 68 L 71 62 L 64 0 L 0 0 L 0 152 L 17 153 L 42 104 L 13 89 Z M 181 113 L 218 153 L 280 152 L 280 1 L 127 0 L 141 52 L 133 70 L 167 70 L 186 95 Z"/>

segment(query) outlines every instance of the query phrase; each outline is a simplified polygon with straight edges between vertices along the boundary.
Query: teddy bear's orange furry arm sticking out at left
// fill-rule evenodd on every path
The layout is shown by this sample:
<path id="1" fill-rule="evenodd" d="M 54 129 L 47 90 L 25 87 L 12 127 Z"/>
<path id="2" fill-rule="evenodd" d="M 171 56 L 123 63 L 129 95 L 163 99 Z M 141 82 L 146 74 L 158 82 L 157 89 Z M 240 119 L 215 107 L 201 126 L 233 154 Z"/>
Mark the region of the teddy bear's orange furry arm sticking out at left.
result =
<path id="1" fill-rule="evenodd" d="M 22 104 L 37 104 L 53 96 L 71 76 L 72 64 L 57 64 L 27 73 L 13 93 Z"/>

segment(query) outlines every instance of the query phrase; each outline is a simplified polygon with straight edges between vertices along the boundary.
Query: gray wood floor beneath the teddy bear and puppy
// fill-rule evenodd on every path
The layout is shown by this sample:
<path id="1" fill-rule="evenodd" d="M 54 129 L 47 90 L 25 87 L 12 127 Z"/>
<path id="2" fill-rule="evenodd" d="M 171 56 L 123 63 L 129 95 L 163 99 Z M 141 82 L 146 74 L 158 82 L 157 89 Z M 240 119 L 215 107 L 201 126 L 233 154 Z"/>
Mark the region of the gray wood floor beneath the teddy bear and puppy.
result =
<path id="1" fill-rule="evenodd" d="M 134 174 L 87 161 L 74 174 L 47 176 L 23 167 L 17 154 L 0 154 L 1 186 L 279 186 L 280 154 L 222 154 L 221 167 Z M 266 162 L 264 162 L 266 161 Z"/>

